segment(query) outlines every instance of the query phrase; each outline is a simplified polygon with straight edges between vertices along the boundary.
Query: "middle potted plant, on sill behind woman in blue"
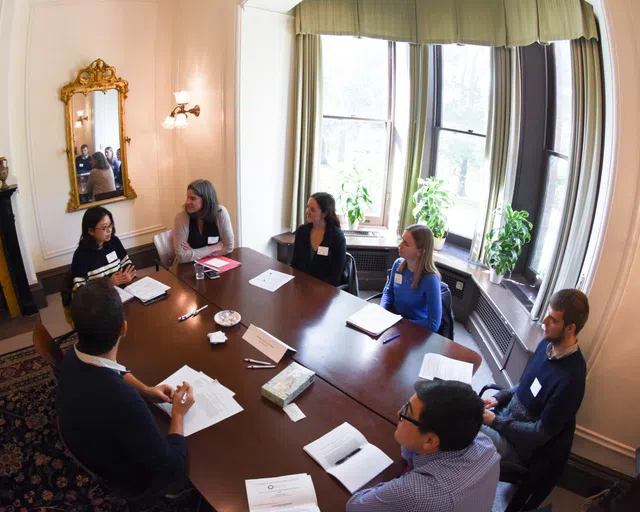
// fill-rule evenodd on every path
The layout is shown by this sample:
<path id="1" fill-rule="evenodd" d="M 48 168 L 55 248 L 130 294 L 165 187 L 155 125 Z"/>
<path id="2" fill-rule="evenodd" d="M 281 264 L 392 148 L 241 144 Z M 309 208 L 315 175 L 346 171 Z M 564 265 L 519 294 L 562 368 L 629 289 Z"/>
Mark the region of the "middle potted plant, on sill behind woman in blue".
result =
<path id="1" fill-rule="evenodd" d="M 425 224 L 433 233 L 434 249 L 439 251 L 447 238 L 447 210 L 453 205 L 453 198 L 439 178 L 418 178 L 418 190 L 413 194 L 413 216 L 416 223 Z"/>

